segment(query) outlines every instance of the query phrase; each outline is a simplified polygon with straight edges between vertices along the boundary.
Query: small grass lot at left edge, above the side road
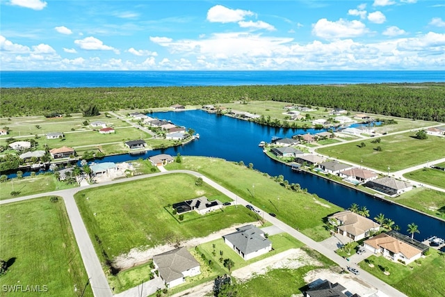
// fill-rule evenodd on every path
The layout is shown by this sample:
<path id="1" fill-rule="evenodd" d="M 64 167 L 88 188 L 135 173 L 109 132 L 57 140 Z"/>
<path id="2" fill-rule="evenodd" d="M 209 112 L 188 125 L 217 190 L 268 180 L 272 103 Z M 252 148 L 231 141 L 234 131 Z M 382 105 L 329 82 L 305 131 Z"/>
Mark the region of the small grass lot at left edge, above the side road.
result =
<path id="1" fill-rule="evenodd" d="M 24 177 L 22 179 L 8 179 L 6 182 L 0 183 L 0 200 L 73 187 L 74 185 L 58 182 L 52 174 L 42 174 L 36 175 L 35 177 Z M 12 196 L 10 195 L 11 191 L 19 191 L 19 195 Z"/>

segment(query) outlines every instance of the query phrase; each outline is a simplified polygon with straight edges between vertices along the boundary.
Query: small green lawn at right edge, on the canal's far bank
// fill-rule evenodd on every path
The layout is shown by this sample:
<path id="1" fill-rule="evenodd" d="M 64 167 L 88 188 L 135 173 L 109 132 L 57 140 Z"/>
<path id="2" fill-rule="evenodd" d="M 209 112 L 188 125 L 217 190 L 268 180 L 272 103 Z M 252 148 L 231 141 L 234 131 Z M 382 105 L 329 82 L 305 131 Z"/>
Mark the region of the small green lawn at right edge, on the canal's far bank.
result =
<path id="1" fill-rule="evenodd" d="M 445 193 L 430 188 L 416 188 L 403 193 L 397 198 L 391 198 L 398 203 L 419 209 L 431 216 L 445 219 Z M 421 231 L 421 230 L 420 230 Z"/>

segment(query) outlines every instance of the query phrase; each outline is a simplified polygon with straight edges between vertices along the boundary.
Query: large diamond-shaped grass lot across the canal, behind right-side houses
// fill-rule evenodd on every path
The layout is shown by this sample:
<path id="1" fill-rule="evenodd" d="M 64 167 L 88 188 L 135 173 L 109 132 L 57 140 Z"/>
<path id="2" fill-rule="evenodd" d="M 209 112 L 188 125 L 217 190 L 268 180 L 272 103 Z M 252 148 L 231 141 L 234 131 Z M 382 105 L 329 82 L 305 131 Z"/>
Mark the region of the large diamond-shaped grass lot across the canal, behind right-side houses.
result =
<path id="1" fill-rule="evenodd" d="M 428 139 L 419 140 L 411 136 L 414 136 L 414 132 L 382 136 L 380 143 L 371 143 L 374 139 L 367 139 L 323 147 L 316 151 L 356 164 L 363 161 L 363 166 L 383 172 L 388 167 L 391 171 L 398 171 L 445 157 L 444 137 L 428 136 Z M 358 147 L 360 143 L 365 143 L 366 147 Z M 382 147 L 381 152 L 375 150 L 378 146 Z"/>

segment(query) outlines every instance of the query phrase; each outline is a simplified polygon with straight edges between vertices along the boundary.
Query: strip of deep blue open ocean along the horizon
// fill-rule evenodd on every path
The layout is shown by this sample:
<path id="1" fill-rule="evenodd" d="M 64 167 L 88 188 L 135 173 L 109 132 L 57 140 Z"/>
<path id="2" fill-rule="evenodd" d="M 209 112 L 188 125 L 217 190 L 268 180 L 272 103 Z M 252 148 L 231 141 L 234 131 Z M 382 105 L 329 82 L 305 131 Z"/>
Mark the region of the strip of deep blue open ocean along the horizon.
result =
<path id="1" fill-rule="evenodd" d="M 0 72 L 1 88 L 322 85 L 445 82 L 445 71 L 43 71 Z"/>

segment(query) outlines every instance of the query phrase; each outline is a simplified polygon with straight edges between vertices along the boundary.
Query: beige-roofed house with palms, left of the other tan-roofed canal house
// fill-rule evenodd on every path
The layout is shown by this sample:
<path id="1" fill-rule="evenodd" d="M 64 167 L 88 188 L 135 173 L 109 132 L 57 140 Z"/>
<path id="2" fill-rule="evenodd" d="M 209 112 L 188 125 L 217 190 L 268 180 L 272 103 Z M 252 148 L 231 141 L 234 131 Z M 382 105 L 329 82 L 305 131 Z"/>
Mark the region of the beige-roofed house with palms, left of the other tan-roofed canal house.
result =
<path id="1" fill-rule="evenodd" d="M 327 219 L 336 228 L 337 233 L 349 237 L 353 241 L 364 239 L 371 232 L 377 232 L 380 229 L 378 223 L 349 210 L 340 211 Z"/>

